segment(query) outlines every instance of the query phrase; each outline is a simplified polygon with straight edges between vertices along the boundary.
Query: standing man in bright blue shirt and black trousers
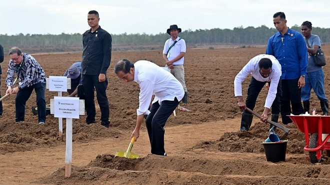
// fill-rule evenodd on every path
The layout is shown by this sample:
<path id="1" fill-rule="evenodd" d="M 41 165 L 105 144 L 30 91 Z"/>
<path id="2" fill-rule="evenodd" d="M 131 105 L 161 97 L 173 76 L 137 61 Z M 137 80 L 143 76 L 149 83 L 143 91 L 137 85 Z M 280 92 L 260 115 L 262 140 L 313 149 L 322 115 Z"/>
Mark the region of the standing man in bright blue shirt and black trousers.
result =
<path id="1" fill-rule="evenodd" d="M 266 54 L 275 56 L 282 67 L 280 113 L 287 125 L 292 121 L 286 115 L 303 114 L 300 96 L 307 73 L 307 47 L 302 35 L 286 26 L 284 12 L 275 13 L 273 23 L 278 32 L 269 38 Z"/>

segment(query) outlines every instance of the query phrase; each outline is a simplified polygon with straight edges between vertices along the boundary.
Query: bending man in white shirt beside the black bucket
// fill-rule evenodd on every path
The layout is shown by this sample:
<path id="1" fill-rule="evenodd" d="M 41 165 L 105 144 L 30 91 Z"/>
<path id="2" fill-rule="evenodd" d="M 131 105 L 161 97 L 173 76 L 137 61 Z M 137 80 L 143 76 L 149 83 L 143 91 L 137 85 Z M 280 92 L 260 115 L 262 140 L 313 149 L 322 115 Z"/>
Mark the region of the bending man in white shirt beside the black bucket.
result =
<path id="1" fill-rule="evenodd" d="M 247 89 L 247 97 L 245 103 L 242 98 L 242 82 L 251 74 L 251 80 Z M 244 110 L 240 122 L 240 131 L 248 131 L 253 115 L 246 110 L 249 108 L 253 111 L 255 101 L 265 83 L 269 83 L 268 94 L 264 104 L 264 110 L 260 120 L 266 122 L 268 120 L 268 112 L 271 107 L 271 121 L 277 123 L 280 111 L 280 96 L 282 94 L 281 83 L 281 66 L 277 59 L 272 55 L 260 54 L 253 57 L 239 71 L 234 80 L 235 97 L 238 99 L 237 106 Z M 275 134 L 275 127 L 270 125 L 270 134 Z"/>

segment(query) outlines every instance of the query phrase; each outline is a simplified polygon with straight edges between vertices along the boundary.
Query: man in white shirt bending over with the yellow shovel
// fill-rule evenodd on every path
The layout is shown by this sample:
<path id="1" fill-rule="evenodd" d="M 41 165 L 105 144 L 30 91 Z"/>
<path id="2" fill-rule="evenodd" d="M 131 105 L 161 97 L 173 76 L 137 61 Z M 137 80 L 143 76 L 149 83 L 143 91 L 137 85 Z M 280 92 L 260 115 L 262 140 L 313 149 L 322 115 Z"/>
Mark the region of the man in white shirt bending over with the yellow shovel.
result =
<path id="1" fill-rule="evenodd" d="M 132 64 L 127 59 L 122 59 L 116 63 L 114 73 L 125 82 L 137 82 L 140 87 L 136 126 L 131 137 L 139 137 L 143 115 L 147 114 L 145 125 L 151 154 L 166 156 L 163 127 L 184 96 L 182 85 L 172 74 L 146 60 Z M 154 99 L 149 111 L 152 95 Z"/>

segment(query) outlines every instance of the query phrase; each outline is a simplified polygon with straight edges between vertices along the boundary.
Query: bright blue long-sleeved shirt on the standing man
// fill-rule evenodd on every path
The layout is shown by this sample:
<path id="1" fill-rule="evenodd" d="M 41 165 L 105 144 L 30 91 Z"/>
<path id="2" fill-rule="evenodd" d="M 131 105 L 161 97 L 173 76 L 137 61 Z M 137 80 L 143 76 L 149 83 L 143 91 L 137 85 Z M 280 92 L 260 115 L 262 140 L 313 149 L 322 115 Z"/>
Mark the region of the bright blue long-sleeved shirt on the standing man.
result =
<path id="1" fill-rule="evenodd" d="M 281 79 L 297 79 L 307 73 L 307 47 L 303 36 L 287 29 L 272 35 L 267 43 L 266 54 L 273 55 L 282 67 Z"/>

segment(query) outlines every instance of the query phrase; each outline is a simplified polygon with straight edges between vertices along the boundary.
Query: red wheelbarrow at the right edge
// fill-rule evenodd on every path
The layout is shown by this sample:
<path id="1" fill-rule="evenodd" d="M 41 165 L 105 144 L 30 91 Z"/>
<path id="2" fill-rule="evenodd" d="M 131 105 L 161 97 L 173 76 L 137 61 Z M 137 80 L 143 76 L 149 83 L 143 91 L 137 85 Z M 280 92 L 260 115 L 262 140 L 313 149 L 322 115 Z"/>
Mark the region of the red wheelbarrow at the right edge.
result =
<path id="1" fill-rule="evenodd" d="M 288 117 L 299 131 L 305 134 L 306 146 L 303 150 L 309 153 L 310 163 L 320 163 L 323 150 L 325 150 L 325 155 L 329 157 L 330 140 L 327 141 L 330 139 L 330 116 L 289 115 Z"/>

